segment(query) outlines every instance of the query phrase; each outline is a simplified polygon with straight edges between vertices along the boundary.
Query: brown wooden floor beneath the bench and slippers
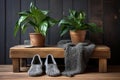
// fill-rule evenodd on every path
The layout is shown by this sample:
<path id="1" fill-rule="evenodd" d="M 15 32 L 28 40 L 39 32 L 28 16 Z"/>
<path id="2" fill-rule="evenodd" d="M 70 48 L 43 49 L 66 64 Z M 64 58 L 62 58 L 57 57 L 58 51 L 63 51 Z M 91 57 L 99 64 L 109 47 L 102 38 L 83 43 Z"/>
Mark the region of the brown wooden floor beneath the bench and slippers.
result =
<path id="1" fill-rule="evenodd" d="M 88 68 L 84 74 L 74 77 L 49 77 L 47 75 L 39 77 L 29 77 L 27 72 L 12 72 L 12 65 L 0 65 L 0 80 L 120 80 L 120 66 L 108 66 L 108 73 L 99 73 L 97 70 Z"/>

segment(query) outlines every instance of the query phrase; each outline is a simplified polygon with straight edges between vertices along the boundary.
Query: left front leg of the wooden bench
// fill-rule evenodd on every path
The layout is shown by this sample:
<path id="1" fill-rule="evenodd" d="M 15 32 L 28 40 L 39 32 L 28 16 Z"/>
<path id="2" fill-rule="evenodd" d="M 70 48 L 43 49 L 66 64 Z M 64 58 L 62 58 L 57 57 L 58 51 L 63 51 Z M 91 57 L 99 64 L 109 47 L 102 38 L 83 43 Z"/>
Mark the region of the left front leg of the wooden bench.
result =
<path id="1" fill-rule="evenodd" d="M 20 72 L 20 59 L 13 58 L 12 64 L 13 64 L 13 72 Z"/>

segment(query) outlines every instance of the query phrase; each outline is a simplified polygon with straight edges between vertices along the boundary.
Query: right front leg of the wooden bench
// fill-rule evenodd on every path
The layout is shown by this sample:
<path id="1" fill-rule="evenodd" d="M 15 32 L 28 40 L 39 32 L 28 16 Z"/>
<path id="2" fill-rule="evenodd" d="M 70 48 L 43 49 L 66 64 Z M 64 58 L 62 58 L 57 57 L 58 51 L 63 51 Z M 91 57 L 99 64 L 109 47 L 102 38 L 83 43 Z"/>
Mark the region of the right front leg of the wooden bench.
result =
<path id="1" fill-rule="evenodd" d="M 99 59 L 99 72 L 107 72 L 107 59 Z"/>

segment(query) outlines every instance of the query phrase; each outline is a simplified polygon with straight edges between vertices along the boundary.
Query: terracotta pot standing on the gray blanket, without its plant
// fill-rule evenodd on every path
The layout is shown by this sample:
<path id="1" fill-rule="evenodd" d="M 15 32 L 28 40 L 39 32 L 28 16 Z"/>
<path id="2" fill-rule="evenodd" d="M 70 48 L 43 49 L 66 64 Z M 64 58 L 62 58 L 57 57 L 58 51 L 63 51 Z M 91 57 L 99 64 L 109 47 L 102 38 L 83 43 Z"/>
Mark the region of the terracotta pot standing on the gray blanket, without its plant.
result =
<path id="1" fill-rule="evenodd" d="M 78 44 L 79 42 L 84 42 L 86 37 L 86 30 L 70 30 L 70 37 L 73 44 Z"/>

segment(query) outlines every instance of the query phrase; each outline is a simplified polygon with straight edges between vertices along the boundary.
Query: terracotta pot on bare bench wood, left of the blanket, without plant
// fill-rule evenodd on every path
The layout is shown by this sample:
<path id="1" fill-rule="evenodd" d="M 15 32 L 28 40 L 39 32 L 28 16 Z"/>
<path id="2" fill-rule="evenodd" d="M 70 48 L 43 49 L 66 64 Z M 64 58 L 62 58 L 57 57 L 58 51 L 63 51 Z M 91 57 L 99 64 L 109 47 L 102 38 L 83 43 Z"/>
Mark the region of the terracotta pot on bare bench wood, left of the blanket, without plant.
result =
<path id="1" fill-rule="evenodd" d="M 45 46 L 45 37 L 40 33 L 30 33 L 30 43 L 35 47 Z"/>

